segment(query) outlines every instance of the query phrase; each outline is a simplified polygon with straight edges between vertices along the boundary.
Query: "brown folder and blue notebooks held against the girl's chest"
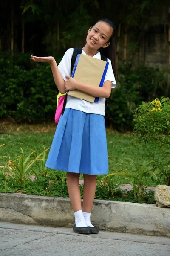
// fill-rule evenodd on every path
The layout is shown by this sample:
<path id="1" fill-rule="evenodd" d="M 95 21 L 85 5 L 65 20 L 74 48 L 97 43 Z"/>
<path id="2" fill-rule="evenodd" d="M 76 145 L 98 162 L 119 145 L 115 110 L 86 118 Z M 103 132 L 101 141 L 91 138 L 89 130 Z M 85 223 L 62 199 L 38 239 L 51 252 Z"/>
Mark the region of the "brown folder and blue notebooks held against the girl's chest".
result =
<path id="1" fill-rule="evenodd" d="M 71 77 L 83 84 L 102 87 L 105 81 L 108 65 L 109 63 L 106 61 L 85 54 L 78 54 Z M 94 97 L 80 90 L 68 91 L 68 95 L 93 103 L 99 102 L 98 97 Z"/>

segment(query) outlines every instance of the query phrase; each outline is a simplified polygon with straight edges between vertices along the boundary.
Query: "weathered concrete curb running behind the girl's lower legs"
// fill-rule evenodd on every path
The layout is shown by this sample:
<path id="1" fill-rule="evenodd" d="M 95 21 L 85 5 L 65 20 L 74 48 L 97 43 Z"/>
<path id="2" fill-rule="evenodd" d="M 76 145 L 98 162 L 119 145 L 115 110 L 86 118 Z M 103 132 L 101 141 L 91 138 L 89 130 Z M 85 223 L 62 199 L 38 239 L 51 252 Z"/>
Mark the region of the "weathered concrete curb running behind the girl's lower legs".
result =
<path id="1" fill-rule="evenodd" d="M 95 200 L 92 223 L 100 230 L 170 237 L 170 208 L 154 204 Z M 0 193 L 0 221 L 72 227 L 69 198 Z"/>

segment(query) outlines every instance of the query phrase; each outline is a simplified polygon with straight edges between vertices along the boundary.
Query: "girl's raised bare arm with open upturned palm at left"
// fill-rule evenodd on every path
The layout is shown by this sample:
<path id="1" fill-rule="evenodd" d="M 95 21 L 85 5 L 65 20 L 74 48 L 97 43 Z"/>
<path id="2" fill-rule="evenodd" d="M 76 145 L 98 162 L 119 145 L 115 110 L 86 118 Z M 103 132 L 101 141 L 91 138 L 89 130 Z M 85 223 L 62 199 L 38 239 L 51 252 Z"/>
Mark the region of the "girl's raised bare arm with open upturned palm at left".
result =
<path id="1" fill-rule="evenodd" d="M 53 73 L 55 84 L 60 93 L 65 93 L 65 81 L 62 79 L 61 74 L 59 73 L 59 69 L 57 67 L 57 63 L 54 57 L 37 57 L 31 55 L 31 60 L 35 62 L 47 62 L 51 66 L 51 70 Z"/>

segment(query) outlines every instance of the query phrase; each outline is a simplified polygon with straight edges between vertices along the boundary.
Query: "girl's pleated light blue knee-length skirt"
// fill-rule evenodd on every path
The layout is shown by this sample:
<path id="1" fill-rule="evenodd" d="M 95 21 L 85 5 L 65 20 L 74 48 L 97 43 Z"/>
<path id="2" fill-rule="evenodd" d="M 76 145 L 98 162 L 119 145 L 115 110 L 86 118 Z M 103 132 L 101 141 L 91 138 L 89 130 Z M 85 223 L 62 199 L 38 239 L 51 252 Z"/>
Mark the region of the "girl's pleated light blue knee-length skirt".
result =
<path id="1" fill-rule="evenodd" d="M 107 174 L 108 150 L 104 116 L 65 108 L 45 166 L 65 172 Z"/>

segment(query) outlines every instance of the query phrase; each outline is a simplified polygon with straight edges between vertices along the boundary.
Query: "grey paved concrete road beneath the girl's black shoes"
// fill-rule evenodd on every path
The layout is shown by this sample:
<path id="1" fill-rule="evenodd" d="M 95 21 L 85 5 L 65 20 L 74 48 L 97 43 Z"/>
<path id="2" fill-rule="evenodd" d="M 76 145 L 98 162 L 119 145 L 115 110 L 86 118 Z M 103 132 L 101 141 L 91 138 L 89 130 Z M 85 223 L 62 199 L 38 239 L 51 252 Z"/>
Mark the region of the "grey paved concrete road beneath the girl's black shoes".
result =
<path id="1" fill-rule="evenodd" d="M 0 223 L 0 256 L 170 256 L 170 238 Z"/>

